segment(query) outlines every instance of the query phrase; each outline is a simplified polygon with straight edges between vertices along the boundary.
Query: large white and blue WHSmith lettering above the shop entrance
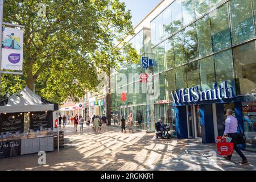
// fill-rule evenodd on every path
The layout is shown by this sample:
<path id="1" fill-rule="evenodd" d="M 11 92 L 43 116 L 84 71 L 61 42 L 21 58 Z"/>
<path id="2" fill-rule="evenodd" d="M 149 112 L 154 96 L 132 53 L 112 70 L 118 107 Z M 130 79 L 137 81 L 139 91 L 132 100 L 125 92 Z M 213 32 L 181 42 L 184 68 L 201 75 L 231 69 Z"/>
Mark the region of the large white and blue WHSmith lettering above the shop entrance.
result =
<path id="1" fill-rule="evenodd" d="M 234 88 L 232 86 L 228 86 L 226 81 L 222 82 L 222 85 L 223 88 L 221 85 L 213 84 L 214 89 L 205 91 L 200 91 L 199 86 L 196 86 L 172 91 L 171 94 L 174 103 L 176 104 L 234 98 Z"/>

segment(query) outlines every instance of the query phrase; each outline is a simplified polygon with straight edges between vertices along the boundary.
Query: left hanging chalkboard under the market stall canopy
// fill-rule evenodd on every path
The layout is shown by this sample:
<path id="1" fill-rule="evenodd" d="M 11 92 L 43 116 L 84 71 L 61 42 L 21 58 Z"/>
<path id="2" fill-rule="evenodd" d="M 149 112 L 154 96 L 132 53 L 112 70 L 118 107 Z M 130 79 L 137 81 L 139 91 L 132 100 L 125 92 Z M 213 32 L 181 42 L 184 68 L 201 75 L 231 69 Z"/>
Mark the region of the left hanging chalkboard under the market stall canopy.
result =
<path id="1" fill-rule="evenodd" d="M 23 132 L 24 115 L 19 113 L 7 113 L 0 115 L 0 133 L 2 132 Z"/>

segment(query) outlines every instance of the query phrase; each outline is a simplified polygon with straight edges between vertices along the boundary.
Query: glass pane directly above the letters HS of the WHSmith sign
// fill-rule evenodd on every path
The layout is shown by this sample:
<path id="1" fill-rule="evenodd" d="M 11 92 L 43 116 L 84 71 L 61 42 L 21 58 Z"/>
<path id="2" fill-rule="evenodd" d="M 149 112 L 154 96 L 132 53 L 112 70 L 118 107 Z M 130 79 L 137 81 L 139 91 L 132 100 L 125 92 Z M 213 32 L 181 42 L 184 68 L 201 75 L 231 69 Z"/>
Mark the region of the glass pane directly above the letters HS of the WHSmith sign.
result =
<path id="1" fill-rule="evenodd" d="M 188 88 L 192 86 L 199 86 L 200 88 L 200 76 L 199 76 L 199 64 L 197 61 L 186 65 L 185 71 L 187 72 L 187 85 Z"/>

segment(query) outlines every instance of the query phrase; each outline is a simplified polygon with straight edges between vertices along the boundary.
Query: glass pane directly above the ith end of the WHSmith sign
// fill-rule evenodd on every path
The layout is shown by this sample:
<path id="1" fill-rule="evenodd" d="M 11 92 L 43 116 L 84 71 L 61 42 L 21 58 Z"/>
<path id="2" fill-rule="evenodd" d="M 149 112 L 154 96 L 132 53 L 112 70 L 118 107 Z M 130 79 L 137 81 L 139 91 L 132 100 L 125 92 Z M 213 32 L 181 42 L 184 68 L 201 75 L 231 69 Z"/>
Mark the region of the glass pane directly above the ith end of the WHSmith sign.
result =
<path id="1" fill-rule="evenodd" d="M 232 50 L 220 52 L 215 55 L 215 72 L 216 81 L 221 84 L 223 81 L 228 81 L 228 85 L 233 85 L 234 71 L 233 71 L 233 56 Z"/>

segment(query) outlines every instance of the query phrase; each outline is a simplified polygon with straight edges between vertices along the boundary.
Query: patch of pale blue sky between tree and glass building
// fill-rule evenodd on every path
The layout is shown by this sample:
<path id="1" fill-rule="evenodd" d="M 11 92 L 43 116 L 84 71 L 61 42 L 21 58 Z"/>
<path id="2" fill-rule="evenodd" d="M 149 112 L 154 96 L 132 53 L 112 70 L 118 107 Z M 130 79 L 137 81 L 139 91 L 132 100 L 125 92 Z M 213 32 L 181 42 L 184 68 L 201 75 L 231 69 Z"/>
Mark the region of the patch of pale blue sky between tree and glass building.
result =
<path id="1" fill-rule="evenodd" d="M 126 10 L 131 10 L 131 21 L 133 26 L 137 26 L 139 22 L 154 9 L 162 0 L 121 0 L 125 2 Z"/>

